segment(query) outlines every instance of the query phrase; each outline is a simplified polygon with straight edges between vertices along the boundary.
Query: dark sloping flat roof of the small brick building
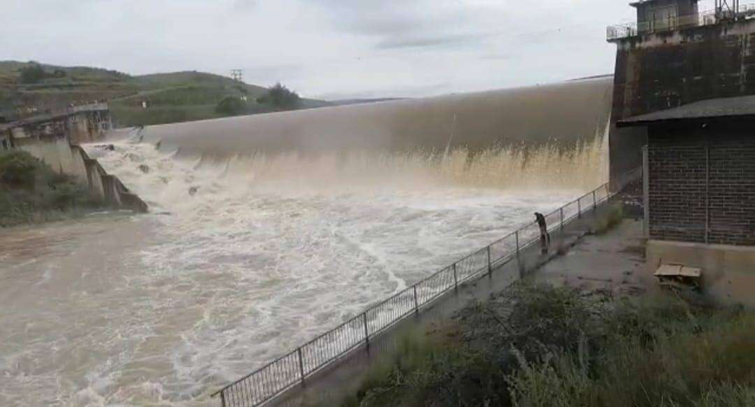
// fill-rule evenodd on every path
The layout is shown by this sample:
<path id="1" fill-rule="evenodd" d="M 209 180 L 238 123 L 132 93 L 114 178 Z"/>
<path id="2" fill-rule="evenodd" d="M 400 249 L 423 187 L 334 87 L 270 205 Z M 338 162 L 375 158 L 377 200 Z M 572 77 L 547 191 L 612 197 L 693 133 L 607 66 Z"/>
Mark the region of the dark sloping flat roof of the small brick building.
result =
<path id="1" fill-rule="evenodd" d="M 724 117 L 755 117 L 755 95 L 700 100 L 673 109 L 634 116 L 616 122 L 617 127 L 649 125 L 678 120 L 714 119 Z"/>

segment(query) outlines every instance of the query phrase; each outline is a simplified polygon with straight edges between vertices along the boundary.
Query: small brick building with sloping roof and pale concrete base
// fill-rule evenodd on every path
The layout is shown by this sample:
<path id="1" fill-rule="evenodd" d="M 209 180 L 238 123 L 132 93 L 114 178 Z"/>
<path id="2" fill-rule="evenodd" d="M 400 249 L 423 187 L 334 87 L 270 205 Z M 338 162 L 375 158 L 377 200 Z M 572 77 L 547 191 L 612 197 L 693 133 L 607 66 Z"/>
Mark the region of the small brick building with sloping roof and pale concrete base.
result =
<path id="1" fill-rule="evenodd" d="M 706 270 L 717 298 L 755 305 L 755 96 L 618 121 L 646 128 L 647 260 Z"/>

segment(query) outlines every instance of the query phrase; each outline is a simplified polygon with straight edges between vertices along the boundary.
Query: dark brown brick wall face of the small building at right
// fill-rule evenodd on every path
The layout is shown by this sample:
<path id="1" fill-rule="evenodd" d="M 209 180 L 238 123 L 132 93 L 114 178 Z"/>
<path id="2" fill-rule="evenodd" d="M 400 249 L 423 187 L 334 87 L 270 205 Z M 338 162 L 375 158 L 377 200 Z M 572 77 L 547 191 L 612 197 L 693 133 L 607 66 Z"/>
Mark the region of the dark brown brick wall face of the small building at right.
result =
<path id="1" fill-rule="evenodd" d="M 648 162 L 651 239 L 755 245 L 753 136 L 651 129 Z"/>

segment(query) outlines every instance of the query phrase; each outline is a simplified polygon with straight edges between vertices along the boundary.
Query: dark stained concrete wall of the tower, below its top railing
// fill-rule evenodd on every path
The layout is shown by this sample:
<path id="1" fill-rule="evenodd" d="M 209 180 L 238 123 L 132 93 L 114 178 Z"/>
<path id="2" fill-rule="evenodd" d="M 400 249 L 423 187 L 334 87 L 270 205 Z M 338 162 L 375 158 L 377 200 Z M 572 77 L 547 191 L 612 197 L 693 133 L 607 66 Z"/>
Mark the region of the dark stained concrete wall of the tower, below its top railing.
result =
<path id="1" fill-rule="evenodd" d="M 755 94 L 755 20 L 617 41 L 612 123 L 716 97 Z M 612 125 L 611 177 L 641 162 L 642 128 Z"/>

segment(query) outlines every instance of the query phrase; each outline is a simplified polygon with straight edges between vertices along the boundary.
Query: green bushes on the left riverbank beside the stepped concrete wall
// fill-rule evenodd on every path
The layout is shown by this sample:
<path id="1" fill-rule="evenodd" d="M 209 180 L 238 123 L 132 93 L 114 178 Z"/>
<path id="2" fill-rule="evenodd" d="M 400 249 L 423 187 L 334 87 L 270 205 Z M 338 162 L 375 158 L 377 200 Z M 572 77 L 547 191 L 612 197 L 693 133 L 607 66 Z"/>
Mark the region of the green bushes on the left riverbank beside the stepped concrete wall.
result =
<path id="1" fill-rule="evenodd" d="M 29 153 L 0 153 L 0 227 L 60 219 L 99 204 L 86 187 Z"/>

